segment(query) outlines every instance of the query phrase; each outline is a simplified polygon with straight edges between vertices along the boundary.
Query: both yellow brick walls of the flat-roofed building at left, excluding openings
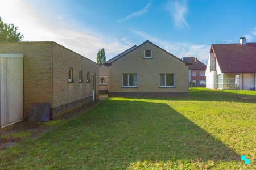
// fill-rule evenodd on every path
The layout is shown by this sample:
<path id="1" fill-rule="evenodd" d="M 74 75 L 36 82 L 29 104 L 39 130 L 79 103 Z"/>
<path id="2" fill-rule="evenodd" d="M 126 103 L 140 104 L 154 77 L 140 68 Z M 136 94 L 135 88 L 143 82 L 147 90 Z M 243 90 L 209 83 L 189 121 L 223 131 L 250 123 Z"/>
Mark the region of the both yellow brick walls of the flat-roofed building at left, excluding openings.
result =
<path id="1" fill-rule="evenodd" d="M 49 102 L 54 118 L 91 102 L 93 73 L 98 97 L 97 64 L 56 42 L 0 42 L 0 53 L 24 54 L 24 118 L 31 103 Z M 68 67 L 73 68 L 73 83 L 68 83 Z M 82 83 L 79 70 L 84 71 Z M 86 83 L 87 71 L 90 83 Z"/>

